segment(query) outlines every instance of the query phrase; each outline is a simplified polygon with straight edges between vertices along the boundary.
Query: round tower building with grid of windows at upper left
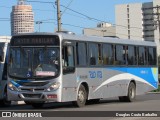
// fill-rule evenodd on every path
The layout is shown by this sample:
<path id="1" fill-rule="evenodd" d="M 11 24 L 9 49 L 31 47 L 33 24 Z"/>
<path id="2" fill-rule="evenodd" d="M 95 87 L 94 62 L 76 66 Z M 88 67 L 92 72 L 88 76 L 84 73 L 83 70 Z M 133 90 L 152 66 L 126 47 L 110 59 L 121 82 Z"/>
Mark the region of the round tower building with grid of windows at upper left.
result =
<path id="1" fill-rule="evenodd" d="M 11 35 L 34 32 L 34 13 L 31 5 L 26 5 L 25 0 L 18 0 L 12 7 Z"/>

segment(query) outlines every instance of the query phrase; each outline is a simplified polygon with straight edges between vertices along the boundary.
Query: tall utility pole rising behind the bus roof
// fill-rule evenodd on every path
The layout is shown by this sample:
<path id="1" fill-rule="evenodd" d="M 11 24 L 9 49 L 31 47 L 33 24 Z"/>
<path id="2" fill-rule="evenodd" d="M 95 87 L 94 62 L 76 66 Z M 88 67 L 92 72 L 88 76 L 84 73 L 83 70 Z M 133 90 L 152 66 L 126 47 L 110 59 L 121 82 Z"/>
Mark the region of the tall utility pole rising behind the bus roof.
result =
<path id="1" fill-rule="evenodd" d="M 57 5 L 57 23 L 58 23 L 58 32 L 61 31 L 61 11 L 60 11 L 60 0 L 56 0 Z"/>

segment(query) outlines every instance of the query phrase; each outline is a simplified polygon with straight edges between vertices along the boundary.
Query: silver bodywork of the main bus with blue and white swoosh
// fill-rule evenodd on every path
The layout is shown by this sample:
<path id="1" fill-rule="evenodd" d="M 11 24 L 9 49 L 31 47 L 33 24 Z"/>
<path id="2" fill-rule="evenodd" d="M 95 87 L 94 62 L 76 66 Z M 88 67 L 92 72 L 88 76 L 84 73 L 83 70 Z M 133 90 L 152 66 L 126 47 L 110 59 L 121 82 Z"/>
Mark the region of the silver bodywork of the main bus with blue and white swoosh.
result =
<path id="1" fill-rule="evenodd" d="M 30 35 L 30 34 L 29 34 Z M 53 34 L 55 35 L 55 34 Z M 106 66 L 87 66 L 79 67 L 75 62 L 75 71 L 70 73 L 63 73 L 62 66 L 62 49 L 63 41 L 73 41 L 75 50 L 76 42 L 97 42 L 100 44 L 123 44 L 123 45 L 140 45 L 156 47 L 153 42 L 135 42 L 128 40 L 119 40 L 113 38 L 100 38 L 100 37 L 79 37 L 76 35 L 56 34 L 60 38 L 60 76 L 55 79 L 48 80 L 49 83 L 45 86 L 20 86 L 19 89 L 30 89 L 30 91 L 11 91 L 8 89 L 10 100 L 26 100 L 26 101 L 53 101 L 53 102 L 67 102 L 76 101 L 78 90 L 81 84 L 86 84 L 86 91 L 88 92 L 88 100 L 100 99 L 118 96 L 127 96 L 128 86 L 131 81 L 135 82 L 136 95 L 144 94 L 148 91 L 158 88 L 158 69 L 156 65 L 153 66 L 121 66 L 121 65 L 106 65 Z M 47 36 L 47 34 L 46 34 Z M 106 41 L 105 41 L 106 40 Z M 69 42 L 68 42 L 69 43 Z M 88 43 L 87 43 L 88 44 Z M 32 46 L 33 47 L 33 46 Z M 75 53 L 76 56 L 76 53 Z M 75 57 L 76 61 L 76 57 Z M 12 81 L 9 78 L 8 83 Z M 42 80 L 46 81 L 46 80 Z M 35 81 L 38 82 L 39 81 Z M 51 92 L 45 90 L 54 82 L 59 82 L 60 87 Z M 29 83 L 29 81 L 28 81 Z M 17 83 L 16 83 L 17 84 Z M 44 91 L 36 91 L 35 89 L 45 89 Z M 24 98 L 23 94 L 28 94 L 28 98 Z M 37 97 L 34 95 L 40 94 Z M 33 95 L 33 96 L 32 96 Z M 48 99 L 47 95 L 55 95 L 56 98 Z M 32 97 L 35 98 L 32 98 Z"/>

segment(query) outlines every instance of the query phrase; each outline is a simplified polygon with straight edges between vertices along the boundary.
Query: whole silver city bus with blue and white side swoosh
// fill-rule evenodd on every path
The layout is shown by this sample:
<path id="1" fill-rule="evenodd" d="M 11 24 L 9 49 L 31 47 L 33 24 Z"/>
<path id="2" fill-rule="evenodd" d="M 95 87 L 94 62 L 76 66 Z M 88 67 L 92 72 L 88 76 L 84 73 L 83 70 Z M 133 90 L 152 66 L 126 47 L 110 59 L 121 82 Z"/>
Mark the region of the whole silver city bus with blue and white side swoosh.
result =
<path id="1" fill-rule="evenodd" d="M 158 88 L 154 42 L 64 33 L 30 33 L 11 39 L 8 99 L 34 108 L 46 102 L 77 107 L 119 97 L 132 102 Z"/>

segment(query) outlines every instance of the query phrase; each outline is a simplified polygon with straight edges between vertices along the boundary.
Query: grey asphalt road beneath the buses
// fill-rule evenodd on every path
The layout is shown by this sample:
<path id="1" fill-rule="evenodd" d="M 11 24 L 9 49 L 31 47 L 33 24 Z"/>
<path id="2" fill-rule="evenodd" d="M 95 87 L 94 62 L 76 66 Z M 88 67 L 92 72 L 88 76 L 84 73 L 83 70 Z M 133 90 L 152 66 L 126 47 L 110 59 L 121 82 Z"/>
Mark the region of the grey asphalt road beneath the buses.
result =
<path id="1" fill-rule="evenodd" d="M 10 107 L 0 107 L 0 110 L 34 110 L 30 105 L 12 105 Z M 38 110 L 49 111 L 160 111 L 160 94 L 137 96 L 135 102 L 120 102 L 118 98 L 103 99 L 98 104 L 86 105 L 76 108 L 72 103 L 46 103 Z"/>

